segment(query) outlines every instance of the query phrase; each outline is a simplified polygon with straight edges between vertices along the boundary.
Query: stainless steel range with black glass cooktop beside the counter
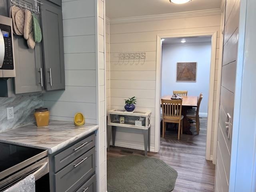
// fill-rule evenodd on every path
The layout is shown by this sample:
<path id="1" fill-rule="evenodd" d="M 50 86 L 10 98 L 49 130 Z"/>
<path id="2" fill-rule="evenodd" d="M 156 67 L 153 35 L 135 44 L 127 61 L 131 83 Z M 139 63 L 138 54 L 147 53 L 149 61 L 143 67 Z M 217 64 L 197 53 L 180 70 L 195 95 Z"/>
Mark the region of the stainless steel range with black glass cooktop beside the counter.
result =
<path id="1" fill-rule="evenodd" d="M 47 150 L 0 143 L 0 192 L 30 174 L 36 179 L 36 192 L 50 192 Z"/>

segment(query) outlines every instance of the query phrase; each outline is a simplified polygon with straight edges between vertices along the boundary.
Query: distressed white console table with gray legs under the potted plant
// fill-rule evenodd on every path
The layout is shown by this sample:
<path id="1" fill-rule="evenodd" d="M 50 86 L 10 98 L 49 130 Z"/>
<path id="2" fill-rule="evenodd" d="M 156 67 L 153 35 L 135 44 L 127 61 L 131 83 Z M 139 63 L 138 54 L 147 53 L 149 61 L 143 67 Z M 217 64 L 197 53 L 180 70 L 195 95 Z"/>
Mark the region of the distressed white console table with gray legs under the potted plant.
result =
<path id="1" fill-rule="evenodd" d="M 108 111 L 108 126 L 111 126 L 111 129 L 108 130 L 108 149 L 110 145 L 111 131 L 112 131 L 112 145 L 115 146 L 116 127 L 140 129 L 142 130 L 142 134 L 144 135 L 145 156 L 147 156 L 148 151 L 150 151 L 150 116 L 151 116 L 151 112 L 142 112 L 142 111 L 127 112 L 126 110 L 118 110 L 118 109 L 112 109 Z M 120 123 L 120 118 L 124 119 L 123 123 Z M 145 119 L 145 122 L 143 122 L 141 126 L 135 125 L 135 120 L 139 118 Z"/>

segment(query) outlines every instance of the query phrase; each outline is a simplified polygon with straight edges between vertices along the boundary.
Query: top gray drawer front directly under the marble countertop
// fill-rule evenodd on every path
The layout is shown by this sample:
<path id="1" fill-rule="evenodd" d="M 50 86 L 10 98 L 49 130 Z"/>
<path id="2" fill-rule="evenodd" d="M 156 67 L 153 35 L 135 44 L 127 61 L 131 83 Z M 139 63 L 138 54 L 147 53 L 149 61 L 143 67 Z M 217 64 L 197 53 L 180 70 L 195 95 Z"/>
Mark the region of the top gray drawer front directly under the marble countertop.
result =
<path id="1" fill-rule="evenodd" d="M 60 169 L 70 164 L 76 158 L 87 152 L 90 148 L 95 146 L 95 134 L 77 142 L 70 148 L 54 156 L 54 172 L 58 172 Z"/>

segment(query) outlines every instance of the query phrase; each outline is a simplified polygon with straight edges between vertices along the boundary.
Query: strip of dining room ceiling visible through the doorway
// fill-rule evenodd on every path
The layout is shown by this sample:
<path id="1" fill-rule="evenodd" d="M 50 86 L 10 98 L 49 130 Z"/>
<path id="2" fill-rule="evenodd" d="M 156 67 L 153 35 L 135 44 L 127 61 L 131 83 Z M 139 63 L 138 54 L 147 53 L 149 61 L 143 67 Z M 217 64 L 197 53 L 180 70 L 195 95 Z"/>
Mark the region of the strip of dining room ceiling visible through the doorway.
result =
<path id="1" fill-rule="evenodd" d="M 181 43 L 181 40 L 186 40 L 185 43 Z M 211 36 L 198 36 L 198 37 L 186 37 L 186 38 L 165 38 L 162 44 L 181 44 L 187 45 L 190 43 L 204 43 L 212 42 Z"/>

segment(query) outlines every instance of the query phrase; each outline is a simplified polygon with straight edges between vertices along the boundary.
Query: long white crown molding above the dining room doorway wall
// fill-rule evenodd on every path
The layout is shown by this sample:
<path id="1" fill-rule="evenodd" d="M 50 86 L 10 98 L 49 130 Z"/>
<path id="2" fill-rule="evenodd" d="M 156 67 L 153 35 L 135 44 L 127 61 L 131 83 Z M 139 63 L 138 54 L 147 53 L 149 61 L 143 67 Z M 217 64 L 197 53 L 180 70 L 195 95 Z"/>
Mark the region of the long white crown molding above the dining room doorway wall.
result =
<path id="1" fill-rule="evenodd" d="M 146 21 L 179 19 L 179 18 L 189 18 L 189 17 L 198 17 L 198 16 L 211 16 L 211 15 L 221 15 L 221 13 L 222 11 L 218 8 L 218 9 L 187 11 L 187 12 L 179 12 L 179 13 L 124 17 L 124 18 L 110 19 L 110 24 L 134 23 L 134 22 L 142 22 L 142 21 L 146 22 Z"/>

